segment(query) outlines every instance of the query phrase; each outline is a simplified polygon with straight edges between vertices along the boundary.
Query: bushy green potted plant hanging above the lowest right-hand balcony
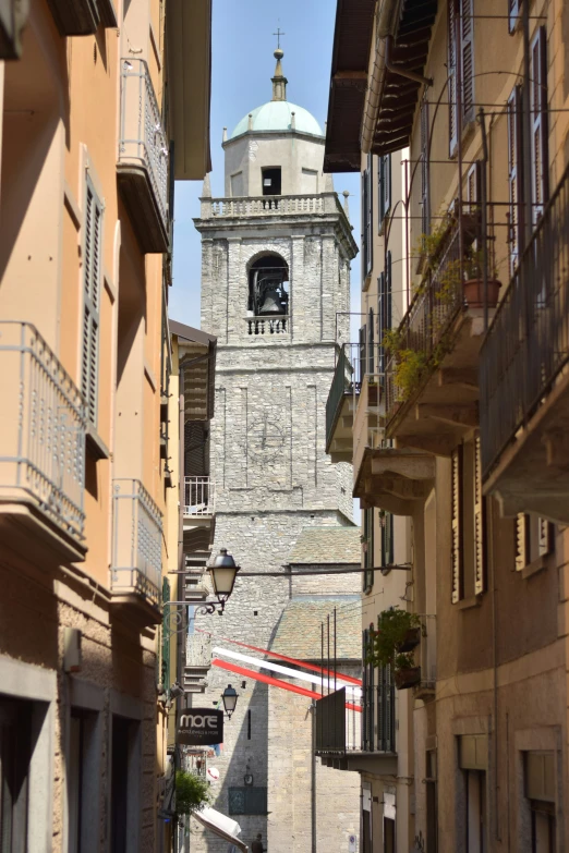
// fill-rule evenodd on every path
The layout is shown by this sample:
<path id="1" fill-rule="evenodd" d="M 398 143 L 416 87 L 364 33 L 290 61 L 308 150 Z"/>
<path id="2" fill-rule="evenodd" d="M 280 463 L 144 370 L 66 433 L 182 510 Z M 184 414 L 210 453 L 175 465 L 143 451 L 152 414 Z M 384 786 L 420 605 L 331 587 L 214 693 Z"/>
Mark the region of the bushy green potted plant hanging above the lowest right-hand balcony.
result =
<path id="1" fill-rule="evenodd" d="M 392 667 L 396 686 L 411 687 L 421 680 L 421 667 L 415 667 L 412 649 L 421 638 L 421 621 L 416 613 L 398 607 L 384 610 L 377 619 L 367 649 L 367 662 L 374 667 Z"/>

